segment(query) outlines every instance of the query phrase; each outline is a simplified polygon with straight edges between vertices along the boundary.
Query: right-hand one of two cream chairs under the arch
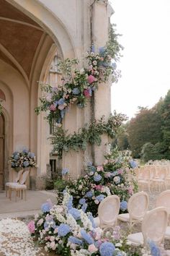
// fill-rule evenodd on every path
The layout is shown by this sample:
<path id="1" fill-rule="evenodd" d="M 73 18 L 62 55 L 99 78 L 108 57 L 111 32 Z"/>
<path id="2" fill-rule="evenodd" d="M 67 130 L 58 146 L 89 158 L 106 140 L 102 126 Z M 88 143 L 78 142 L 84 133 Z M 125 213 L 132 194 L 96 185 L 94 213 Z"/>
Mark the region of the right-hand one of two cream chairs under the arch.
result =
<path id="1" fill-rule="evenodd" d="M 30 173 L 30 170 L 24 171 L 24 173 L 22 174 L 22 179 L 19 182 L 19 184 L 9 185 L 9 199 L 10 200 L 12 200 L 12 190 L 15 191 L 15 202 L 17 202 L 17 195 L 19 195 L 20 192 L 22 192 L 22 197 L 23 197 L 23 192 L 24 192 L 24 200 L 26 200 L 26 190 L 27 190 L 26 182 L 27 182 L 29 173 Z"/>

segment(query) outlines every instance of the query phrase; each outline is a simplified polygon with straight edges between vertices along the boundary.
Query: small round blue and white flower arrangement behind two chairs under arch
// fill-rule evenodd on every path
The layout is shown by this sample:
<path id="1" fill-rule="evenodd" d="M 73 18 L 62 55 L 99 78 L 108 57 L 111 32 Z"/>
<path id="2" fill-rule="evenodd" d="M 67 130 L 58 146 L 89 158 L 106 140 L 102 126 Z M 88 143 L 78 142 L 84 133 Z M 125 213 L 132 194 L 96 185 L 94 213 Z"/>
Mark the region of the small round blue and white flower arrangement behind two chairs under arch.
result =
<path id="1" fill-rule="evenodd" d="M 20 152 L 15 151 L 12 153 L 9 161 L 11 163 L 11 167 L 15 168 L 16 170 L 19 170 L 19 168 L 37 167 L 35 154 L 27 149 L 24 149 Z"/>

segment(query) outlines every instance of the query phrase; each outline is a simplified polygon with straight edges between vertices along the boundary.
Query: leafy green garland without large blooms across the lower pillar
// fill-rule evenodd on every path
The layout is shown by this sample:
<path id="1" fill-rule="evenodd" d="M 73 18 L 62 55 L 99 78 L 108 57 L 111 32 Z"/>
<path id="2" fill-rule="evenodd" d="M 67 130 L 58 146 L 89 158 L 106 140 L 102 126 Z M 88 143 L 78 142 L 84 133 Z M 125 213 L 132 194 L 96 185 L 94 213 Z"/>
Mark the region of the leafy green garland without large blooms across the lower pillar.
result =
<path id="1" fill-rule="evenodd" d="M 104 116 L 99 120 L 94 120 L 89 124 L 86 124 L 84 128 L 79 129 L 78 132 L 74 132 L 73 135 L 68 135 L 66 130 L 62 127 L 56 127 L 52 137 L 53 153 L 62 158 L 63 151 L 69 150 L 86 150 L 88 143 L 91 145 L 101 144 L 101 135 L 107 134 L 111 139 L 114 139 L 117 134 L 117 129 L 122 124 L 122 121 L 126 120 L 126 116 L 123 114 L 110 115 L 108 121 L 104 121 Z"/>

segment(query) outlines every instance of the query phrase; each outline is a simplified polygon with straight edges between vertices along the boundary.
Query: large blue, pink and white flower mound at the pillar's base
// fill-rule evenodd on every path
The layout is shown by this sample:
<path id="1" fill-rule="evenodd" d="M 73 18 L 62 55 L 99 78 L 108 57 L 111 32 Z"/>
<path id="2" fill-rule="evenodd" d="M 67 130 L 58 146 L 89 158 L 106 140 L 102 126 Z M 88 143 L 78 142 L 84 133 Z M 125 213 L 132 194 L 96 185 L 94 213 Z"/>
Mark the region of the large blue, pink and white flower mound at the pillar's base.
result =
<path id="1" fill-rule="evenodd" d="M 102 166 L 88 163 L 85 175 L 73 181 L 69 179 L 64 190 L 73 196 L 75 208 L 91 212 L 94 217 L 97 216 L 99 202 L 109 195 L 120 197 L 120 213 L 126 213 L 128 199 L 134 192 L 138 192 L 135 174 L 133 169 L 128 167 L 130 159 L 125 153 L 115 148 L 105 157 Z M 62 192 L 58 192 L 58 200 L 63 200 Z"/>

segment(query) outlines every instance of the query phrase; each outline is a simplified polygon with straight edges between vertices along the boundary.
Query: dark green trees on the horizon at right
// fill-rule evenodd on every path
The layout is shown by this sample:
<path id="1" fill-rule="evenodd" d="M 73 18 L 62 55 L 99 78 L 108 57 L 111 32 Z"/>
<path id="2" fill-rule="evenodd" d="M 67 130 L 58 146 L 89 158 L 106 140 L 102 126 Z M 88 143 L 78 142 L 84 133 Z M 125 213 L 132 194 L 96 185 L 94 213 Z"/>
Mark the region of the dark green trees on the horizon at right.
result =
<path id="1" fill-rule="evenodd" d="M 117 145 L 143 161 L 170 159 L 170 90 L 153 108 L 139 107 L 135 117 L 120 127 Z"/>

